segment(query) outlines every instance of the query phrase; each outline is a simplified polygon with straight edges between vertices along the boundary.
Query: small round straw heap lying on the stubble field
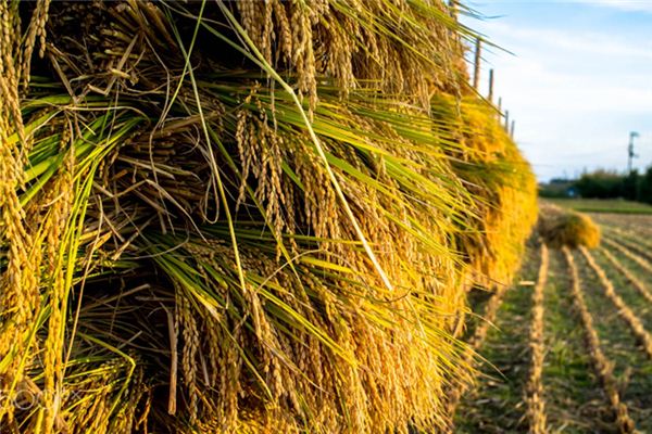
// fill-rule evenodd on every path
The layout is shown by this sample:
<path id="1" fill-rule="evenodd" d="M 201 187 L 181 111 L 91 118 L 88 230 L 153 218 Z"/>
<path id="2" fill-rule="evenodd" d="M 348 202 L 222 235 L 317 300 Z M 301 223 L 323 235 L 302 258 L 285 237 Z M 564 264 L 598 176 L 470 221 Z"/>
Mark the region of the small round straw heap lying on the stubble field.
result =
<path id="1" fill-rule="evenodd" d="M 600 245 L 600 228 L 589 216 L 552 204 L 541 205 L 537 229 L 546 243 L 555 248 Z"/>

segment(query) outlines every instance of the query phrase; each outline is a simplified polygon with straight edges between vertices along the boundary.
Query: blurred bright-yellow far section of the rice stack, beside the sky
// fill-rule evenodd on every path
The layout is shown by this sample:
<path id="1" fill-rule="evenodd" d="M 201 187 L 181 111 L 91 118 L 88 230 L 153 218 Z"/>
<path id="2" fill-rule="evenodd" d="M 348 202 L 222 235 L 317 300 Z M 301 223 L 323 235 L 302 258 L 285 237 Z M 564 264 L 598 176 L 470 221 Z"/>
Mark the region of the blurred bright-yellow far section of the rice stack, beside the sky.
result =
<path id="1" fill-rule="evenodd" d="M 490 105 L 473 98 L 457 104 L 450 95 L 439 95 L 432 111 L 436 118 L 456 119 L 444 137 L 465 145 L 451 149 L 452 166 L 474 197 L 465 221 L 473 221 L 477 230 L 461 231 L 459 248 L 474 269 L 475 283 L 488 289 L 506 285 L 537 219 L 531 167 Z"/>

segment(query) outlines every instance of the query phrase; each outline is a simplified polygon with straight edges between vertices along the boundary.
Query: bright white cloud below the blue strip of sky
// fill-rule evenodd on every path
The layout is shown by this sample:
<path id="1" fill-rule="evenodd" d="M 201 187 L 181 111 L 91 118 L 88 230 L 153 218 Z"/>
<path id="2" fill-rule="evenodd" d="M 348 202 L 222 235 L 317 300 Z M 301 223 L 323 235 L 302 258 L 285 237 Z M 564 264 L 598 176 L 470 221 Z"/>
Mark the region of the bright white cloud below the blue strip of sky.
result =
<path id="1" fill-rule="evenodd" d="M 516 118 L 516 138 L 539 177 L 623 169 L 630 130 L 641 132 L 639 167 L 652 162 L 649 42 L 598 28 L 479 24 L 514 53 L 486 52 L 485 72 L 496 68 L 496 94 Z"/>

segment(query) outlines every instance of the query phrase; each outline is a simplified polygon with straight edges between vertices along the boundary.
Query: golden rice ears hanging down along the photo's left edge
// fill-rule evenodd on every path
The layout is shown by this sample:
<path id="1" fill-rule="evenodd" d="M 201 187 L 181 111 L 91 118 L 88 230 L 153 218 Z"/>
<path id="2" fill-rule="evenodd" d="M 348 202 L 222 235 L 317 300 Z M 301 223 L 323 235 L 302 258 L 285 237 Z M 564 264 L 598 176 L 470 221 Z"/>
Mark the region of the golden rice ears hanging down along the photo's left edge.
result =
<path id="1" fill-rule="evenodd" d="M 21 113 L 20 81 L 23 56 L 18 3 L 0 2 L 0 248 L 7 265 L 0 275 L 0 386 L 5 395 L 15 395 L 25 379 L 26 355 L 35 349 L 34 321 L 41 303 L 39 271 L 41 238 L 26 218 L 17 192 L 24 187 L 25 163 L 33 138 L 24 128 Z M 42 4 L 39 4 L 42 11 Z M 32 25 L 41 26 L 45 18 Z M 24 68 L 23 68 L 24 69 Z M 14 136 L 17 140 L 10 140 Z M 38 225 L 36 225 L 38 226 Z M 0 420 L 12 419 L 15 408 L 3 399 Z"/>

